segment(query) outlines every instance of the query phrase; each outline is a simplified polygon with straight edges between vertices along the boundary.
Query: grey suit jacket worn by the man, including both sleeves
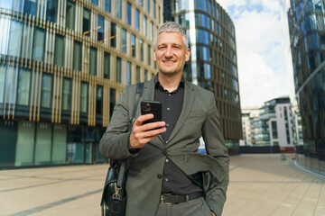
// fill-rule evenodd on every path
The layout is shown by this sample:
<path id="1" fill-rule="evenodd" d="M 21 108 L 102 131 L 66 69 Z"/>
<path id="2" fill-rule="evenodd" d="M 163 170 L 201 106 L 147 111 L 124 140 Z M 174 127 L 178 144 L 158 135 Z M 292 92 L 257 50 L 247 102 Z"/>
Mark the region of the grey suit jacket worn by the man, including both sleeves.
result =
<path id="1" fill-rule="evenodd" d="M 214 95 L 190 82 L 184 85 L 184 102 L 181 116 L 168 143 L 159 135 L 139 153 L 130 154 L 127 148 L 129 119 L 135 104 L 136 85 L 126 86 L 113 112 L 106 133 L 100 140 L 104 157 L 129 157 L 127 174 L 126 215 L 155 215 L 162 190 L 164 160 L 169 157 L 186 175 L 203 175 L 205 199 L 211 211 L 221 215 L 228 187 L 228 149 L 226 148 Z M 142 100 L 153 100 L 153 79 L 144 83 Z M 140 115 L 138 105 L 136 117 Z M 198 153 L 200 137 L 206 143 L 208 155 Z M 195 181 L 195 179 L 193 179 Z"/>

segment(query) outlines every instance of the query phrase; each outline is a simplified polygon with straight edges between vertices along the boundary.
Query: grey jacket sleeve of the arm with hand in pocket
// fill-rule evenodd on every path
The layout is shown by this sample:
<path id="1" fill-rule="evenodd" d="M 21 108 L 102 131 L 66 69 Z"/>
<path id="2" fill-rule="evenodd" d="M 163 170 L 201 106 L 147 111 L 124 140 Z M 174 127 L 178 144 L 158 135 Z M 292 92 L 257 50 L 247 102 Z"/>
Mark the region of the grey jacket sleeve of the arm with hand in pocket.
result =
<path id="1" fill-rule="evenodd" d="M 220 216 L 224 203 L 226 202 L 226 192 L 229 183 L 229 157 L 228 148 L 226 147 L 221 132 L 216 102 L 212 93 L 209 103 L 209 113 L 202 128 L 202 136 L 206 143 L 207 154 L 217 159 L 218 163 L 224 168 L 226 173 L 224 179 L 206 192 L 206 201 L 209 208 L 211 211 L 215 212 L 216 215 Z"/>

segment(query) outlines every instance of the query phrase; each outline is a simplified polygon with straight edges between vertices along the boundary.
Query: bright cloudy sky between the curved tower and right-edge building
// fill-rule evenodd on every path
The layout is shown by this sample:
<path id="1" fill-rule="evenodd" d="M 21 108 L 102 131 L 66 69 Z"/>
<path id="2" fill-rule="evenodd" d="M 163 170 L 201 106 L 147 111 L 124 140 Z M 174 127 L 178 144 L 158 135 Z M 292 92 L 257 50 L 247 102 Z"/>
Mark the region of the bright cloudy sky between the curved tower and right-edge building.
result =
<path id="1" fill-rule="evenodd" d="M 241 108 L 293 96 L 285 0 L 217 0 L 235 24 Z M 293 97 L 292 97 L 293 98 Z"/>

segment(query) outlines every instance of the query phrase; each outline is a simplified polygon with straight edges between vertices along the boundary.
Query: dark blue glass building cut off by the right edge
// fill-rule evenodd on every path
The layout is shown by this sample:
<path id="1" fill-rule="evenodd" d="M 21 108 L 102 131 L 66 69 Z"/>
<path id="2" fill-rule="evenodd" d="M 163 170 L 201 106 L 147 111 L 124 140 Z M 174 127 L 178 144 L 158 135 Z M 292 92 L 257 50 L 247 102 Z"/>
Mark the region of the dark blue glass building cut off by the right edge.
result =
<path id="1" fill-rule="evenodd" d="M 302 117 L 302 166 L 325 174 L 325 4 L 291 0 L 288 11 L 295 92 Z"/>

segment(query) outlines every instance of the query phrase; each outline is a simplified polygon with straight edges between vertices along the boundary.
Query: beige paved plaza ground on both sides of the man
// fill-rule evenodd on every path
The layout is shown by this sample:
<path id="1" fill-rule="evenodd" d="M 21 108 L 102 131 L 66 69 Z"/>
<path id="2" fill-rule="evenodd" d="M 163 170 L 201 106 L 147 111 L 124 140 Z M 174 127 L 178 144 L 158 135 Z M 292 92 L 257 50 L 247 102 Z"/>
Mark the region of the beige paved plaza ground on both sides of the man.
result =
<path id="1" fill-rule="evenodd" d="M 295 166 L 293 155 L 230 157 L 223 216 L 325 216 L 325 178 Z M 107 165 L 0 171 L 0 215 L 100 215 Z"/>

